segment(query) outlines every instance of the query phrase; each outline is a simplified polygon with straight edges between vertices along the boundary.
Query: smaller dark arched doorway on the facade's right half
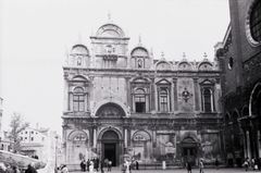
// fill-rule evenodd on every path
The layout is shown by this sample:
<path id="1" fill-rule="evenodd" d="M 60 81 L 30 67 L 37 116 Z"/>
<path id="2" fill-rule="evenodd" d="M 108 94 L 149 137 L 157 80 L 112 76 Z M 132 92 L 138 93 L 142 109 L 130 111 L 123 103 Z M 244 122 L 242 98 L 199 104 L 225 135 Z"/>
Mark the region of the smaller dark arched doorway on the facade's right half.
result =
<path id="1" fill-rule="evenodd" d="M 190 162 L 191 165 L 196 165 L 197 158 L 197 145 L 198 143 L 192 137 L 185 137 L 182 140 L 182 153 L 183 162 Z"/>

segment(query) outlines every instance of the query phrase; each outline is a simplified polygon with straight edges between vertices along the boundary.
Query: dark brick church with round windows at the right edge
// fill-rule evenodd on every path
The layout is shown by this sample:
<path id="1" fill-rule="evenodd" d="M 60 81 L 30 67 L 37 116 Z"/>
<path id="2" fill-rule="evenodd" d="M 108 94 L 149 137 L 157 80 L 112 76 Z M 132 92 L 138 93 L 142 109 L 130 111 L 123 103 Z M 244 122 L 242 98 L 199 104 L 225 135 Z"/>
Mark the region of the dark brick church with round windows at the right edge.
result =
<path id="1" fill-rule="evenodd" d="M 261 1 L 229 0 L 231 24 L 216 44 L 226 164 L 261 158 Z"/>

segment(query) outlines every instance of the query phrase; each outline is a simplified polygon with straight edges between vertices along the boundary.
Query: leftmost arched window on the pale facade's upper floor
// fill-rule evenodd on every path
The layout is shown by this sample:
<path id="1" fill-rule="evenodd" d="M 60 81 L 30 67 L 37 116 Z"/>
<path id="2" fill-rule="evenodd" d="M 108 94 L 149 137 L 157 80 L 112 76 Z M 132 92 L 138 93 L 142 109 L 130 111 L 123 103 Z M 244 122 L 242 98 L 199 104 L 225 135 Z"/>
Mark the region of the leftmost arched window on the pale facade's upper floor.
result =
<path id="1" fill-rule="evenodd" d="M 84 89 L 75 88 L 73 96 L 73 110 L 75 112 L 84 112 Z"/>

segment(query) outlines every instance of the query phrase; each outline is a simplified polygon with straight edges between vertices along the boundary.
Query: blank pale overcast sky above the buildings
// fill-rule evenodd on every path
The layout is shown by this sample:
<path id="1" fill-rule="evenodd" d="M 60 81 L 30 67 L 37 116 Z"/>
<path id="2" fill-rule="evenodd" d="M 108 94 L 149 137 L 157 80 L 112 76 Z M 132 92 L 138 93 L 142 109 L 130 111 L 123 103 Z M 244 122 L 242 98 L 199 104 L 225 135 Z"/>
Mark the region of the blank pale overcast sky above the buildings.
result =
<path id="1" fill-rule="evenodd" d="M 129 40 L 154 59 L 214 58 L 229 24 L 228 0 L 0 0 L 0 58 L 3 126 L 18 112 L 32 127 L 62 132 L 66 49 L 108 23 L 108 14 Z"/>

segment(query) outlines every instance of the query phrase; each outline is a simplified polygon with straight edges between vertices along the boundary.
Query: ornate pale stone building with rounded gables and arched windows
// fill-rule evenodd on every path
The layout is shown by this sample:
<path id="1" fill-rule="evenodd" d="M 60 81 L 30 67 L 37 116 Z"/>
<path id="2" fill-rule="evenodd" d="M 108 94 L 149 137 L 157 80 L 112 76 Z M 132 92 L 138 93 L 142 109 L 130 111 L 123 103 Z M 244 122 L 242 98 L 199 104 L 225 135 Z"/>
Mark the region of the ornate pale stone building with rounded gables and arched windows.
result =
<path id="1" fill-rule="evenodd" d="M 98 157 L 182 164 L 223 158 L 220 67 L 204 54 L 154 59 L 109 22 L 72 46 L 63 66 L 64 162 Z"/>

